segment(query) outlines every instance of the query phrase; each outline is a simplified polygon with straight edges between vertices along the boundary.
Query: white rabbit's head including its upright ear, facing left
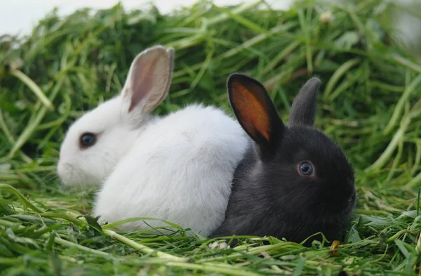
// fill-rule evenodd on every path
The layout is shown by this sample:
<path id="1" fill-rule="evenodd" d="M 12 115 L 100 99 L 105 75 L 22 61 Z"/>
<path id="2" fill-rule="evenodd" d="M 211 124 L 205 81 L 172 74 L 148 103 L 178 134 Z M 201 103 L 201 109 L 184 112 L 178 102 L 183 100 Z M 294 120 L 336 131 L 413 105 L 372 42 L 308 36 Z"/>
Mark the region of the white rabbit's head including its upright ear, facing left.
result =
<path id="1" fill-rule="evenodd" d="M 173 48 L 154 46 L 139 53 L 121 93 L 83 114 L 60 147 L 58 176 L 64 185 L 98 185 L 133 145 L 149 113 L 171 84 Z"/>

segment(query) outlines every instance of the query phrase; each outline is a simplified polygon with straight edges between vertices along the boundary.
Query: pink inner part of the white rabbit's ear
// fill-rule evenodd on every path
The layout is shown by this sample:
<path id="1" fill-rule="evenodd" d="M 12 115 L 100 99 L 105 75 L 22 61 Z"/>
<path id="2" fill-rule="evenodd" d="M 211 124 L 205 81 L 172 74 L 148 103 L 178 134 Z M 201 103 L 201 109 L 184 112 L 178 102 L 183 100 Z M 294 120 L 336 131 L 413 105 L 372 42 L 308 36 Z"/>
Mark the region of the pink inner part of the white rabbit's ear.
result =
<path id="1" fill-rule="evenodd" d="M 131 112 L 147 95 L 152 91 L 154 79 L 154 67 L 158 62 L 159 55 L 150 60 L 149 58 L 140 58 L 135 65 L 131 79 L 131 104 L 128 112 Z"/>

